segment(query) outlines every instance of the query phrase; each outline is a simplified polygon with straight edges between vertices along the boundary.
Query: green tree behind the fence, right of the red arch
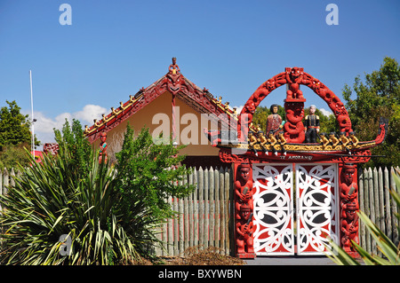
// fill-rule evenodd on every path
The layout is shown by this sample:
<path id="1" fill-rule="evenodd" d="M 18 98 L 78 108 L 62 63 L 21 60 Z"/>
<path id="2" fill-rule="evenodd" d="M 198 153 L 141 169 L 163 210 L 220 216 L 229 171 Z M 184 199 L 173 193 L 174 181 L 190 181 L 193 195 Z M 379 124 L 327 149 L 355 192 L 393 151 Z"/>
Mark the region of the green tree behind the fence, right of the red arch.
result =
<path id="1" fill-rule="evenodd" d="M 356 98 L 352 99 L 353 92 Z M 372 158 L 366 165 L 393 166 L 400 164 L 400 67 L 396 59 L 386 57 L 378 71 L 365 74 L 364 82 L 357 75 L 353 87 L 345 84 L 343 98 L 360 140 L 376 138 L 380 116 L 388 119 L 388 135 L 383 145 L 372 148 Z M 372 130 L 376 129 L 376 131 Z"/>

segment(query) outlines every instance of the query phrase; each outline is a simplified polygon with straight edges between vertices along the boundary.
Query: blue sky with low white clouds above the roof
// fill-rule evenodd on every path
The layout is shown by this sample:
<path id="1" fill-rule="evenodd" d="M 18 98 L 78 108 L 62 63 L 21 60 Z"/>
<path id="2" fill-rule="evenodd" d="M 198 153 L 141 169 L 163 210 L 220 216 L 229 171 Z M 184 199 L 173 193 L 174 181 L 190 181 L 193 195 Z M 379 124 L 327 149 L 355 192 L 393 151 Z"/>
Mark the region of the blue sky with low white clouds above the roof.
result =
<path id="1" fill-rule="evenodd" d="M 60 25 L 60 4 L 72 25 Z M 327 4 L 339 25 L 329 26 Z M 400 55 L 398 0 L 89 1 L 0 0 L 0 106 L 30 113 L 36 136 L 52 141 L 65 117 L 83 124 L 154 83 L 177 57 L 181 73 L 230 106 L 261 83 L 304 67 L 340 98 L 345 83 Z M 329 109 L 303 87 L 306 106 Z M 283 106 L 284 87 L 261 106 Z"/>

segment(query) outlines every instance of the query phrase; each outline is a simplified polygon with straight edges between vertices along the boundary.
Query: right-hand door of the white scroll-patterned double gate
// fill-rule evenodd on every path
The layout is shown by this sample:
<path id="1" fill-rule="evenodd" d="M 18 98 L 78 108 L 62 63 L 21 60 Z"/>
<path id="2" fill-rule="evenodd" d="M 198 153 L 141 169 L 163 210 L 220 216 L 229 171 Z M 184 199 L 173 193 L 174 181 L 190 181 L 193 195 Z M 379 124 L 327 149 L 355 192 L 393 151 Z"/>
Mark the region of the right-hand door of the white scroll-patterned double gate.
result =
<path id="1" fill-rule="evenodd" d="M 296 164 L 297 253 L 324 255 L 339 241 L 337 164 Z"/>

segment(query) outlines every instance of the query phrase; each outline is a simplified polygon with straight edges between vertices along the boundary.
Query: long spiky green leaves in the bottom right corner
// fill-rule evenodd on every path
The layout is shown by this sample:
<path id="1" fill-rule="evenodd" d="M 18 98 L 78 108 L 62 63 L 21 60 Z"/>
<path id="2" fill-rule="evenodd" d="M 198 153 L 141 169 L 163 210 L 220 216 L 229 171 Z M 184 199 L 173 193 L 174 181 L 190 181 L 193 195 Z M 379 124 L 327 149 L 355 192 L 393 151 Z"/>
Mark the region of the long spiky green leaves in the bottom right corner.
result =
<path id="1" fill-rule="evenodd" d="M 400 173 L 400 172 L 399 172 Z M 396 186 L 400 188 L 400 176 L 394 174 Z M 400 210 L 400 193 L 390 192 L 392 198 L 396 201 L 397 210 Z M 400 264 L 400 244 L 398 247 L 388 239 L 384 232 L 380 231 L 377 225 L 373 224 L 372 221 L 360 211 L 358 213 L 359 219 L 364 222 L 366 228 L 371 233 L 373 239 L 376 241 L 378 248 L 382 255 L 385 257 L 380 257 L 378 255 L 370 255 L 368 252 L 361 248 L 356 242 L 352 242 L 353 247 L 356 252 L 361 255 L 363 261 L 367 265 L 399 265 Z M 396 214 L 397 220 L 400 221 L 400 214 Z M 400 227 L 397 226 L 397 230 L 400 232 Z M 328 255 L 334 263 L 340 265 L 359 265 L 360 263 L 348 255 L 342 248 L 331 242 L 334 250 L 337 251 L 337 255 Z"/>

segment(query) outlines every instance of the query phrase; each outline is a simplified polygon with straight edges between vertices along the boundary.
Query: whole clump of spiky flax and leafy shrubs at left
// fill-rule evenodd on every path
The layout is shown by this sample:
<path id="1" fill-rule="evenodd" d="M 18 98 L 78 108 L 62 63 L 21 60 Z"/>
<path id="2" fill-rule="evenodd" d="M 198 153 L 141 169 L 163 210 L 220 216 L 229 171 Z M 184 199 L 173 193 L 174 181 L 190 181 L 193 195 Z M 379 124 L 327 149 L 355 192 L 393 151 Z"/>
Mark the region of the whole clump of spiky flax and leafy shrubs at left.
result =
<path id="1" fill-rule="evenodd" d="M 74 122 L 71 130 L 66 122 L 62 135 L 56 132 L 61 145 L 59 153 L 45 155 L 41 164 L 27 152 L 33 165 L 20 167 L 21 174 L 15 177 L 15 186 L 9 187 L 8 193 L 0 197 L 4 208 L 0 216 L 3 226 L 0 263 L 140 261 L 140 255 L 147 255 L 146 248 L 156 240 L 153 228 L 159 224 L 161 216 L 169 215 L 163 214 L 162 208 L 156 210 L 156 205 L 162 203 L 156 197 L 182 195 L 188 191 L 176 186 L 178 190 L 174 192 L 172 185 L 159 184 L 170 184 L 178 176 L 164 172 L 167 170 L 163 168 L 177 162 L 167 156 L 174 153 L 172 145 L 141 144 L 148 141 L 148 131 L 142 130 L 140 141 L 124 141 L 123 153 L 119 156 L 125 163 L 117 165 L 116 171 L 111 164 L 99 164 L 98 154 L 87 152 L 87 145 L 79 136 L 79 127 L 80 123 Z M 127 138 L 132 138 L 131 132 L 128 129 Z M 138 147 L 140 153 L 135 151 Z M 144 161 L 132 160 L 139 157 Z M 133 173 L 130 166 L 135 162 L 140 166 L 133 167 Z M 154 175 L 150 177 L 149 174 Z M 148 183 L 136 184 L 138 179 Z M 148 187 L 151 189 L 146 190 Z M 169 191 L 163 193 L 164 189 Z M 60 255 L 60 248 L 65 248 L 60 237 L 63 240 L 67 234 L 70 254 L 64 256 Z"/>

